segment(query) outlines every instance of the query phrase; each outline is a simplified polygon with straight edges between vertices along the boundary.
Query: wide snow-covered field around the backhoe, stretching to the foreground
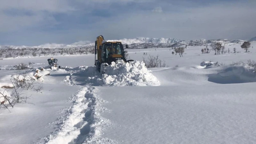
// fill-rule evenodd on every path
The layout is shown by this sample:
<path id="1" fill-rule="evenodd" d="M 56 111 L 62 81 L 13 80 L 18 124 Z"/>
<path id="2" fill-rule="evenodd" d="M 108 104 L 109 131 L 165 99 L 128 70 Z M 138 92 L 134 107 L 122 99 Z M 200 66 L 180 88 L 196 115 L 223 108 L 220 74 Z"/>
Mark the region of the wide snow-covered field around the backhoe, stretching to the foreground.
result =
<path id="1" fill-rule="evenodd" d="M 256 60 L 256 50 L 226 50 L 234 47 L 241 52 L 202 54 L 204 47 L 189 46 L 183 57 L 169 48 L 128 49 L 138 61 L 113 64 L 102 76 L 94 55 L 58 56 L 59 70 L 46 68 L 47 57 L 0 60 L 0 86 L 19 63 L 50 72 L 38 82 L 42 91 L 23 90 L 27 103 L 0 109 L 0 143 L 256 143 L 256 74 L 230 65 Z M 169 67 L 143 67 L 149 54 Z"/>

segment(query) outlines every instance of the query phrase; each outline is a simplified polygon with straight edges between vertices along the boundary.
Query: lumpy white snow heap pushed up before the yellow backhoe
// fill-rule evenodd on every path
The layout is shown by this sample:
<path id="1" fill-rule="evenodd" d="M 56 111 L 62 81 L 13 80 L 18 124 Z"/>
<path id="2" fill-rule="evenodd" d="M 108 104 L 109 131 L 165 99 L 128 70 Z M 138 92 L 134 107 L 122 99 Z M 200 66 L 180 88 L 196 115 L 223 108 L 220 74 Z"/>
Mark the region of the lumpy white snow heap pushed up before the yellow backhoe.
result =
<path id="1" fill-rule="evenodd" d="M 133 61 L 124 63 L 123 60 L 112 62 L 102 75 L 104 84 L 111 86 L 158 86 L 160 82 L 145 66 L 144 62 Z"/>

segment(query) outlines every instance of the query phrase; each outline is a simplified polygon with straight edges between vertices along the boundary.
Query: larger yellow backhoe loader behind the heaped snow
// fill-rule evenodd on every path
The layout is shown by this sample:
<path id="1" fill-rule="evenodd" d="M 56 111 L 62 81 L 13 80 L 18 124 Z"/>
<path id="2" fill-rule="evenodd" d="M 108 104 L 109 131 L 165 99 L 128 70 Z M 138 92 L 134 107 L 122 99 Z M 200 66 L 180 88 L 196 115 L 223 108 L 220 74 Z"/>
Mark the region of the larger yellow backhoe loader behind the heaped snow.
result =
<path id="1" fill-rule="evenodd" d="M 128 48 L 128 45 L 125 45 Z M 110 65 L 111 62 L 116 60 L 124 60 L 124 62 L 130 62 L 133 60 L 127 60 L 122 42 L 108 42 L 105 41 L 103 36 L 98 36 L 95 41 L 95 66 L 99 72 L 102 71 L 102 66 Z M 97 60 L 96 60 L 97 54 Z M 104 72 L 103 72 L 104 73 Z"/>

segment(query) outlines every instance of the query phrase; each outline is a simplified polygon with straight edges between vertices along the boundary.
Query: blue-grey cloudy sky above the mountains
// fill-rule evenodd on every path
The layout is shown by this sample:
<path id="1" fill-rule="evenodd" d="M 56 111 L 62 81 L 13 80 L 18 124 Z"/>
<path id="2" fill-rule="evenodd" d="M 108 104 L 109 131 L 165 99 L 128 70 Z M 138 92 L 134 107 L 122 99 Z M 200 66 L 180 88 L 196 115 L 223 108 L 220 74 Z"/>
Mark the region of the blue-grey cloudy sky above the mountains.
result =
<path id="1" fill-rule="evenodd" d="M 0 0 L 0 45 L 256 36 L 255 0 Z"/>

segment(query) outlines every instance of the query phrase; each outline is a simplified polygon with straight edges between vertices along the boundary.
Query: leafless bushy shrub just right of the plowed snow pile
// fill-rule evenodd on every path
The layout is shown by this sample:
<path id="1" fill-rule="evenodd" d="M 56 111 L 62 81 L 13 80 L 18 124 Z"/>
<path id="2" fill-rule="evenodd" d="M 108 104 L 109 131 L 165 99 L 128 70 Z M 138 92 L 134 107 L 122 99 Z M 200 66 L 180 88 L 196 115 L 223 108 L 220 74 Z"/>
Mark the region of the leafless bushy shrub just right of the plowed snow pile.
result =
<path id="1" fill-rule="evenodd" d="M 148 60 L 145 60 L 145 58 L 143 57 L 143 61 L 144 61 L 145 66 L 147 68 L 157 68 L 157 67 L 161 68 L 161 67 L 166 66 L 165 60 L 160 60 L 159 55 L 157 55 L 156 57 L 152 56 L 152 55 L 149 55 Z"/>

